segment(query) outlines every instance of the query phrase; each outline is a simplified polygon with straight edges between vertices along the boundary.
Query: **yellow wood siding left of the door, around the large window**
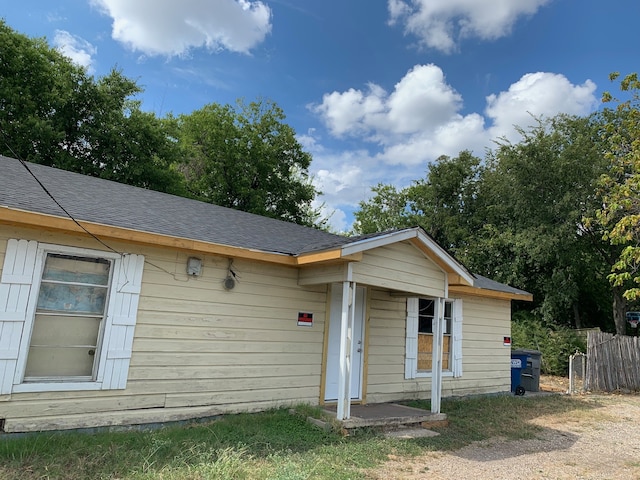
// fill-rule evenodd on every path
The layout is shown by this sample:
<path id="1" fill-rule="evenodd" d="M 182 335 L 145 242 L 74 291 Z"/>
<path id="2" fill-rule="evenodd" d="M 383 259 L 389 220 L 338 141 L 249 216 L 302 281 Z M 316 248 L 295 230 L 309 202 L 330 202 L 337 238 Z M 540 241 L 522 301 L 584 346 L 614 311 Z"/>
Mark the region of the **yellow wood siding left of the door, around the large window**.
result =
<path id="1" fill-rule="evenodd" d="M 104 249 L 80 236 L 2 227 L 0 261 L 9 238 Z M 318 403 L 324 285 L 299 286 L 295 268 L 236 260 L 237 283 L 226 291 L 226 258 L 110 245 L 146 258 L 127 388 L 1 397 L 6 431 L 179 420 Z M 186 274 L 191 255 L 203 259 L 200 277 Z M 313 327 L 298 327 L 298 312 L 313 313 Z"/>

